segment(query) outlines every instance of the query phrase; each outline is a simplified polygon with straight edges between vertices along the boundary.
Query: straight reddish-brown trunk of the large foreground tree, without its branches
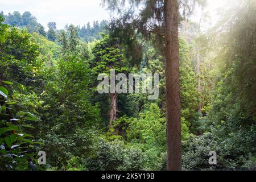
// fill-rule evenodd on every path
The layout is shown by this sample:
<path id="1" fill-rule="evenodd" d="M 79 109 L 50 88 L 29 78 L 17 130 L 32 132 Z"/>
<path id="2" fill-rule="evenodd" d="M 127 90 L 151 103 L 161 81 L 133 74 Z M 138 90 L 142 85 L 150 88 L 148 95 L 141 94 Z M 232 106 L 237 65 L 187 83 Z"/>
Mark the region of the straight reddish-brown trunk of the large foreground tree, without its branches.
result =
<path id="1" fill-rule="evenodd" d="M 164 1 L 166 28 L 166 119 L 167 170 L 181 170 L 181 118 L 179 80 L 179 5 L 177 0 Z"/>

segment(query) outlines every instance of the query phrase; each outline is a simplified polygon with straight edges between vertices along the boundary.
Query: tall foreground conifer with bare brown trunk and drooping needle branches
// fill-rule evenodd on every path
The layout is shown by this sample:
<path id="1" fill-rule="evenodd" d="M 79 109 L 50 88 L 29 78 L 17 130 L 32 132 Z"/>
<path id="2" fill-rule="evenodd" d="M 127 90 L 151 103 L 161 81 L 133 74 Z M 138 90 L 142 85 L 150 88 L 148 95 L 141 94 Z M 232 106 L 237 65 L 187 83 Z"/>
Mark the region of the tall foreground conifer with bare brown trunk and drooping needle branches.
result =
<path id="1" fill-rule="evenodd" d="M 126 39 L 131 47 L 137 46 L 135 32 L 150 39 L 156 45 L 166 61 L 166 118 L 167 118 L 167 154 L 168 170 L 181 170 L 181 117 L 180 117 L 180 84 L 179 84 L 179 20 L 191 14 L 196 1 L 189 0 L 162 0 L 162 1 L 127 1 L 129 10 L 142 8 L 139 14 L 136 11 L 122 11 L 126 1 L 103 0 L 110 10 L 118 10 L 121 20 L 113 22 L 112 31 L 115 35 L 125 32 L 120 39 Z M 198 1 L 200 3 L 204 1 Z M 189 5 L 190 4 L 190 5 Z M 183 10 L 183 15 L 179 10 Z M 137 31 L 135 31 L 137 30 Z M 128 39 L 128 40 L 127 40 Z M 130 42 L 130 43 L 128 43 Z M 135 43 L 135 44 L 134 44 Z M 131 50 L 134 50 L 133 48 Z M 138 49 L 137 49 L 138 51 Z M 139 55 L 139 53 L 136 53 Z"/>

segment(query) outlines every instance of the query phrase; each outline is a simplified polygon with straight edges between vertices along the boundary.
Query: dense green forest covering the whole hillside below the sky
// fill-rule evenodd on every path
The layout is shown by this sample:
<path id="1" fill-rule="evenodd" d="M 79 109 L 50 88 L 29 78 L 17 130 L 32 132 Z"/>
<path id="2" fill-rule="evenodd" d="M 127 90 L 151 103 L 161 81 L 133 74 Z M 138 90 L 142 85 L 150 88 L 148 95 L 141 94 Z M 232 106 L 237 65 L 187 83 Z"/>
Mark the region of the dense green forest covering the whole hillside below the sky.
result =
<path id="1" fill-rule="evenodd" d="M 102 6 L 117 17 L 64 29 L 0 13 L 0 171 L 254 171 L 256 1 L 232 0 L 213 26 L 190 18 L 205 0 Z M 158 98 L 100 93 L 113 69 L 157 73 Z"/>

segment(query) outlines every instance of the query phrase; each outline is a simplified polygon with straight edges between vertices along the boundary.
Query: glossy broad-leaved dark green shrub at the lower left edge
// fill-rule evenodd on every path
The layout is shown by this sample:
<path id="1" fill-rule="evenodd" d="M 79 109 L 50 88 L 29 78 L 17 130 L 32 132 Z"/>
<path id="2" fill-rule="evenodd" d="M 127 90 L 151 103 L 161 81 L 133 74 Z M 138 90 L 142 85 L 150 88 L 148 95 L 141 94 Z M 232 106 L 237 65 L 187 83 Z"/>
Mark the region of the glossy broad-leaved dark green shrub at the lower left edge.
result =
<path id="1" fill-rule="evenodd" d="M 9 81 L 2 82 L 13 84 Z M 9 98 L 8 90 L 3 86 L 0 90 L 0 169 L 27 170 L 29 162 L 36 163 L 35 152 L 38 144 L 41 144 L 27 133 L 30 129 L 35 129 L 32 123 L 38 118 L 30 112 L 14 110 L 12 105 L 15 102 Z"/>

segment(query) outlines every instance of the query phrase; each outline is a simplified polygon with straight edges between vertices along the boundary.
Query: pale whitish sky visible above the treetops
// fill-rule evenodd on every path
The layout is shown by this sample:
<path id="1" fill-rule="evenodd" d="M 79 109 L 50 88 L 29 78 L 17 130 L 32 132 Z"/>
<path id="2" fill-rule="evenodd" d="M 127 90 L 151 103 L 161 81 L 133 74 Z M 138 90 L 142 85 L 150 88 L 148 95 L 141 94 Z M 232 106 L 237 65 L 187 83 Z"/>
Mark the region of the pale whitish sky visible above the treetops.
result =
<path id="1" fill-rule="evenodd" d="M 214 10 L 223 6 L 227 0 L 208 0 L 209 11 L 215 17 Z M 13 11 L 30 11 L 44 27 L 48 22 L 56 22 L 57 28 L 64 28 L 66 24 L 91 24 L 94 20 L 110 19 L 109 11 L 100 6 L 101 0 L 0 0 L 0 11 L 5 14 Z M 202 11 L 196 10 L 193 20 L 197 21 Z M 214 21 L 214 19 L 213 19 Z"/>

